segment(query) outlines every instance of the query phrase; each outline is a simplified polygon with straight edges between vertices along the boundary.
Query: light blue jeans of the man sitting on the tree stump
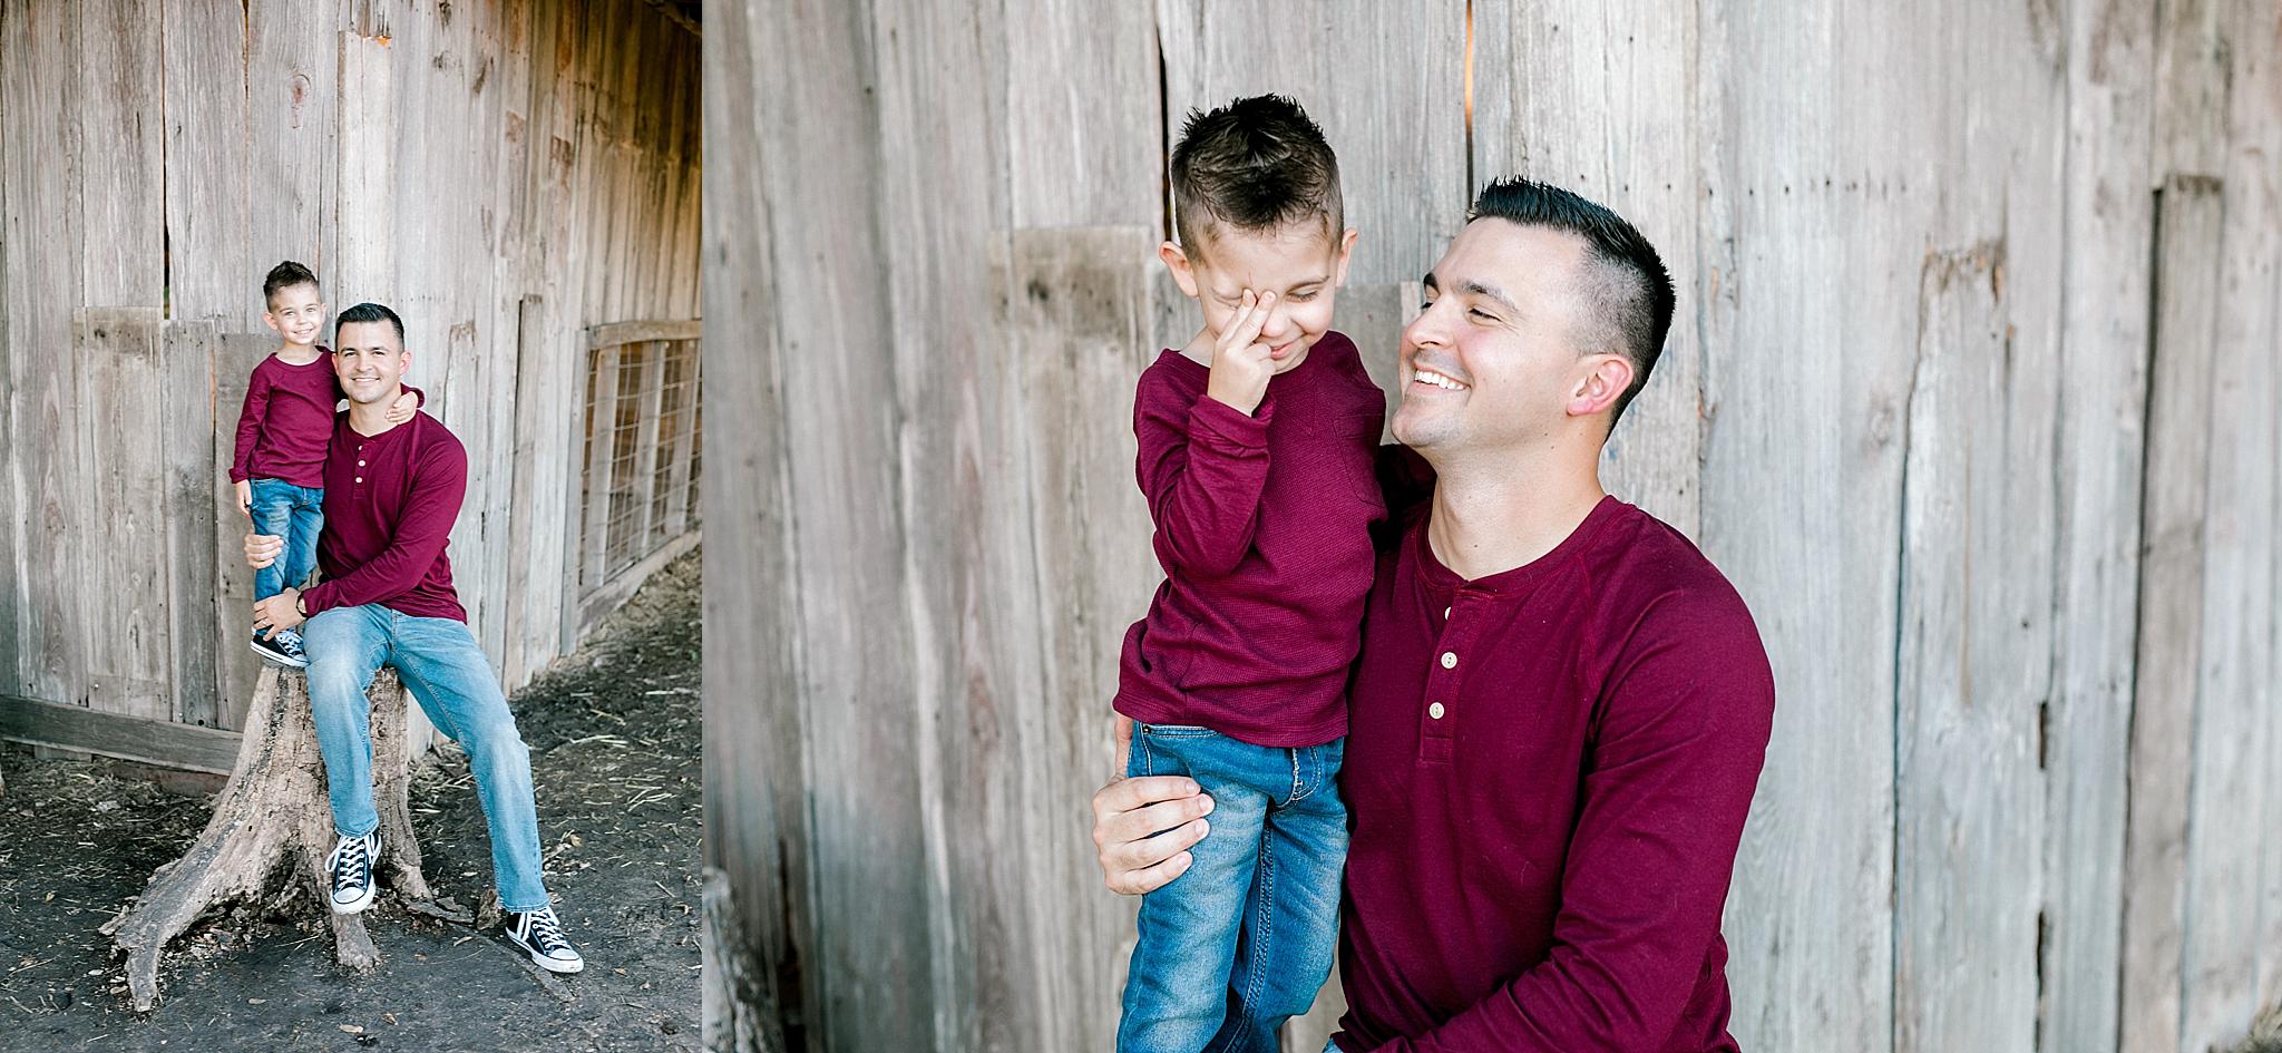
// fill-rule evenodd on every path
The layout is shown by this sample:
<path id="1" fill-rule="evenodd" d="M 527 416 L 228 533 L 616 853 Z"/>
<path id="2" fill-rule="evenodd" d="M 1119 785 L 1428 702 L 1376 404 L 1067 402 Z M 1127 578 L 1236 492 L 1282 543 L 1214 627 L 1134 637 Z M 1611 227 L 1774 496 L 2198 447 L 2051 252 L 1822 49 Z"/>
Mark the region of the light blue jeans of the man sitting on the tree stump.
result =
<path id="1" fill-rule="evenodd" d="M 397 669 L 429 722 L 468 751 L 475 793 L 491 822 L 491 879 L 500 907 L 548 905 L 539 877 L 539 806 L 532 799 L 532 751 L 507 710 L 475 633 L 454 619 L 415 619 L 379 603 L 333 608 L 301 626 L 308 649 L 308 701 L 317 717 L 333 829 L 365 836 L 381 825 L 372 811 L 372 704 L 365 688 L 383 665 Z"/>

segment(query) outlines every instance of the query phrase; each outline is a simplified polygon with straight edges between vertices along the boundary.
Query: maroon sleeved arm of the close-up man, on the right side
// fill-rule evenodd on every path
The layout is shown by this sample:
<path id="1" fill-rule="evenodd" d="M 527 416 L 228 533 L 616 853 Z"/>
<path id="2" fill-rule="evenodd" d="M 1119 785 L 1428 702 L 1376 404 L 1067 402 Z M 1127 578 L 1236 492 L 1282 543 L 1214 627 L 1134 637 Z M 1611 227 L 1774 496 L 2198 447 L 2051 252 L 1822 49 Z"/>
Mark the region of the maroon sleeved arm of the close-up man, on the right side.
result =
<path id="1" fill-rule="evenodd" d="M 1545 962 L 1376 1053 L 1664 1048 L 1718 939 L 1775 681 L 1741 598 L 1670 598 L 1618 660 Z"/>

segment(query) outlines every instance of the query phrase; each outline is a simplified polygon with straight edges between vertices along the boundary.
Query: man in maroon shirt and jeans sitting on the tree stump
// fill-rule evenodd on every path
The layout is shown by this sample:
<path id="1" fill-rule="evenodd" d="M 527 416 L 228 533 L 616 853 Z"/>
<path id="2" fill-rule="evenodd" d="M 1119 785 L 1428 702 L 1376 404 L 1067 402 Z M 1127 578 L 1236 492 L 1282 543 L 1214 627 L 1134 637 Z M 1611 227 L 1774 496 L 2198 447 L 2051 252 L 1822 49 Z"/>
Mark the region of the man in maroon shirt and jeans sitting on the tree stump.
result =
<path id="1" fill-rule="evenodd" d="M 356 914 L 372 905 L 372 870 L 383 845 L 372 811 L 365 690 L 388 665 L 429 720 L 468 751 L 491 822 L 491 868 L 507 939 L 548 971 L 577 973 L 584 959 L 564 937 L 541 884 L 529 749 L 452 589 L 445 546 L 468 491 L 468 450 L 424 411 L 402 425 L 386 420 L 411 365 L 404 320 L 395 311 L 379 304 L 342 311 L 333 343 L 349 409 L 333 423 L 324 466 L 324 532 L 317 539 L 324 580 L 253 605 L 258 630 L 306 621 L 308 699 L 340 836 L 326 861 L 333 911 Z M 274 534 L 246 534 L 246 562 L 256 569 L 281 548 Z"/>

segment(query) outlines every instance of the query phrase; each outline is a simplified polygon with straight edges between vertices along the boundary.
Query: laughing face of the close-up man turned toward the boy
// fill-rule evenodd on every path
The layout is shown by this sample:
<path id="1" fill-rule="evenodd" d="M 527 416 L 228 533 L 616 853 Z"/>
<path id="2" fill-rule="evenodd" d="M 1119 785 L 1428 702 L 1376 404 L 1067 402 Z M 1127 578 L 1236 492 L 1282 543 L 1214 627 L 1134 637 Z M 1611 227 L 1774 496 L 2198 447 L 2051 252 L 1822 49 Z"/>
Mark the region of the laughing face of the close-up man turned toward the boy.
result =
<path id="1" fill-rule="evenodd" d="M 1403 327 L 1394 439 L 1424 455 L 1547 443 L 1568 418 L 1581 238 L 1474 219 L 1426 274 Z"/>

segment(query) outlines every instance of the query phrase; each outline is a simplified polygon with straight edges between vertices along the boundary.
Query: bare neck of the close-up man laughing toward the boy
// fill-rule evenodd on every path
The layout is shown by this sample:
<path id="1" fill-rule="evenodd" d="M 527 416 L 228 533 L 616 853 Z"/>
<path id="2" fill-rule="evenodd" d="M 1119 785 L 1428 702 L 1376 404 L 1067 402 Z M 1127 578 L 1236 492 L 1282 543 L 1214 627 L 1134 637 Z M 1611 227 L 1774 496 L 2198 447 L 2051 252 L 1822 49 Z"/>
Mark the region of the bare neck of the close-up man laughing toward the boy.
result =
<path id="1" fill-rule="evenodd" d="M 1465 580 L 1527 566 L 1568 541 L 1607 496 L 1597 464 L 1600 450 L 1435 464 L 1426 544 Z"/>

